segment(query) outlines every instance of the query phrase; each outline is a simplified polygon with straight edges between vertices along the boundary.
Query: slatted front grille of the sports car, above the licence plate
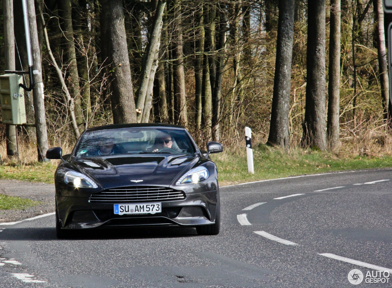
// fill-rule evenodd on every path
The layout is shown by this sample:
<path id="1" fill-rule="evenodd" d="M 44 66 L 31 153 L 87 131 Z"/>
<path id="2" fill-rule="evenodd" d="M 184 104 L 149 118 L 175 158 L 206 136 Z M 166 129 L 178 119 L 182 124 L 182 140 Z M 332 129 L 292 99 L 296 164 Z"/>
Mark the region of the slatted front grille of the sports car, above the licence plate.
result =
<path id="1" fill-rule="evenodd" d="M 185 193 L 167 187 L 132 186 L 105 190 L 91 195 L 90 202 L 145 202 L 183 200 Z"/>

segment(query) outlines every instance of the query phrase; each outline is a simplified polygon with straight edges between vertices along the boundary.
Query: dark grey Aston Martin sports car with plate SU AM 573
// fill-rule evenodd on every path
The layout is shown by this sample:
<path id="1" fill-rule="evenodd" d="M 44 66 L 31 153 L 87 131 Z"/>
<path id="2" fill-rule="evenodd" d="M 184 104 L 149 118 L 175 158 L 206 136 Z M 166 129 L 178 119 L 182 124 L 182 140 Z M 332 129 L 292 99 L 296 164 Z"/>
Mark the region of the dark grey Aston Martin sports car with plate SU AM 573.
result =
<path id="1" fill-rule="evenodd" d="M 209 142 L 208 154 L 222 152 Z M 87 129 L 54 174 L 56 233 L 96 227 L 181 225 L 218 234 L 218 170 L 189 132 L 166 124 L 121 124 Z"/>

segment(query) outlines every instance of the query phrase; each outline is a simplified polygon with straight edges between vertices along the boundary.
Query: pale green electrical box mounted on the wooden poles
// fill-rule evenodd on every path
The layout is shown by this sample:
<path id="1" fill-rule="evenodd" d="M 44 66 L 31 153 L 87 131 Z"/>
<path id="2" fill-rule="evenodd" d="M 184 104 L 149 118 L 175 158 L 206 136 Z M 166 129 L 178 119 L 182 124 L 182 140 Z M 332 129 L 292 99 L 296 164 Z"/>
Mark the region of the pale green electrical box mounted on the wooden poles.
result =
<path id="1" fill-rule="evenodd" d="M 0 105 L 4 124 L 22 125 L 26 123 L 22 75 L 0 75 Z"/>

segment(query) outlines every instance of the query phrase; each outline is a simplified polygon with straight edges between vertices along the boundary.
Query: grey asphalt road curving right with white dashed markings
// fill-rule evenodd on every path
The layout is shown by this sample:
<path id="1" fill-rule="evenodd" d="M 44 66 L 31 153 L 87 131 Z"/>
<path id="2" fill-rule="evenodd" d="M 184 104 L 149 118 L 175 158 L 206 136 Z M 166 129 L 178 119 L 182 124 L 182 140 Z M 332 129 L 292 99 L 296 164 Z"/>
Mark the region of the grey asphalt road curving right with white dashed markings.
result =
<path id="1" fill-rule="evenodd" d="M 0 225 L 0 287 L 390 287 L 391 203 L 392 170 L 373 170 L 221 187 L 218 236 L 160 227 L 57 240 L 54 215 Z"/>

